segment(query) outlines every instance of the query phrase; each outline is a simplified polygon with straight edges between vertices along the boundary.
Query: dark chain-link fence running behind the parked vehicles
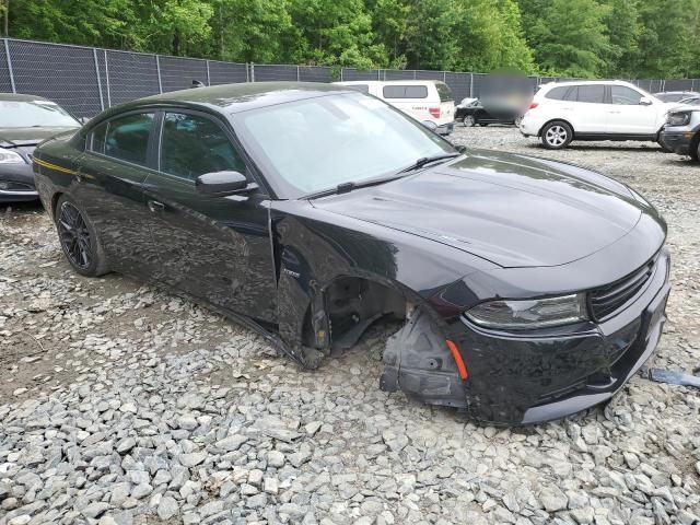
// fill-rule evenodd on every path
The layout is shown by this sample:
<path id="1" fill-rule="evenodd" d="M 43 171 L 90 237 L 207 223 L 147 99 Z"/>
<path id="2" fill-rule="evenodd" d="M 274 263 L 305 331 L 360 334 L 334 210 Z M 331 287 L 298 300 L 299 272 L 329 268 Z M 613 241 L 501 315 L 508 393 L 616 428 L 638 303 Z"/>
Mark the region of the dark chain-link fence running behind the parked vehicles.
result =
<path id="1" fill-rule="evenodd" d="M 183 90 L 194 80 L 207 85 L 235 82 L 441 80 L 456 101 L 483 97 L 498 78 L 486 73 L 424 70 L 328 68 L 235 63 L 170 57 L 44 42 L 0 38 L 0 93 L 31 93 L 56 101 L 80 117 L 142 96 Z M 520 89 L 535 92 L 544 82 L 574 79 L 526 77 Z M 633 80 L 652 93 L 700 90 L 700 80 Z"/>

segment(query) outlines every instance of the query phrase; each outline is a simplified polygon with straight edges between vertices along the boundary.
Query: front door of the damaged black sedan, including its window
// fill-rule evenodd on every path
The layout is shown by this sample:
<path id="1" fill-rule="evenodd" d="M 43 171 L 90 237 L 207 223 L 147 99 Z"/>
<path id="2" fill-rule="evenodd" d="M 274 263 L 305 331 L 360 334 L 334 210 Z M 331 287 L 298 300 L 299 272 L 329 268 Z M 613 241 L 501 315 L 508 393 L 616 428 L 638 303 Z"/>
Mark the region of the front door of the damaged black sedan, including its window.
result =
<path id="1" fill-rule="evenodd" d="M 164 113 L 159 170 L 144 183 L 161 279 L 215 306 L 276 323 L 267 196 L 208 196 L 195 186 L 205 173 L 249 176 L 231 139 L 209 115 Z"/>

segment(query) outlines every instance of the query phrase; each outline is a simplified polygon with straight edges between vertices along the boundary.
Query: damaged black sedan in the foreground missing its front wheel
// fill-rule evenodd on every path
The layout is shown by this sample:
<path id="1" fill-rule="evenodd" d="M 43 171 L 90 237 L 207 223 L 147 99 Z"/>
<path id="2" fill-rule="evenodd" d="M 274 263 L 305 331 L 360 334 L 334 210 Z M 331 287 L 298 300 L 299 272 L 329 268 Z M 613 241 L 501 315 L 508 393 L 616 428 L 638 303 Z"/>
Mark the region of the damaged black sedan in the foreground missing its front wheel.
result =
<path id="1" fill-rule="evenodd" d="M 304 366 L 384 317 L 380 387 L 500 423 L 609 399 L 650 358 L 666 225 L 569 164 L 458 151 L 338 85 L 136 101 L 35 153 L 75 271 L 122 272 L 264 334 Z"/>

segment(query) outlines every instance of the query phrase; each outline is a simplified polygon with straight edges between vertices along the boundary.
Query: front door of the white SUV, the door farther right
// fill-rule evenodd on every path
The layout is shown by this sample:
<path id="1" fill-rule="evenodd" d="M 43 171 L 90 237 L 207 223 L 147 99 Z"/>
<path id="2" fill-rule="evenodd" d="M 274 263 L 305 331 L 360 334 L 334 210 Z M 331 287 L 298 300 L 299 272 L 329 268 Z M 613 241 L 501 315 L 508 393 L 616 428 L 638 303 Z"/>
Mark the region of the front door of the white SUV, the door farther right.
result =
<path id="1" fill-rule="evenodd" d="M 610 85 L 609 90 L 608 133 L 654 136 L 658 131 L 658 104 L 640 104 L 644 94 L 627 85 Z"/>

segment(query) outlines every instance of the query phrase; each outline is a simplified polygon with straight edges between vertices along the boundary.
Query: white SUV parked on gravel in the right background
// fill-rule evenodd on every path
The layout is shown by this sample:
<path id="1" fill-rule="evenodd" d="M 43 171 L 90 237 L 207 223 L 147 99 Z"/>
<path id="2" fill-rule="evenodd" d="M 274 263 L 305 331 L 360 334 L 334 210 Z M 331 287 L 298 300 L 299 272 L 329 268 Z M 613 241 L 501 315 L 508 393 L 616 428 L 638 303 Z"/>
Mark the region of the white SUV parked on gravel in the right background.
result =
<path id="1" fill-rule="evenodd" d="M 535 94 L 520 130 L 540 137 L 550 150 L 572 140 L 658 142 L 668 109 L 668 104 L 628 82 L 552 82 Z"/>

